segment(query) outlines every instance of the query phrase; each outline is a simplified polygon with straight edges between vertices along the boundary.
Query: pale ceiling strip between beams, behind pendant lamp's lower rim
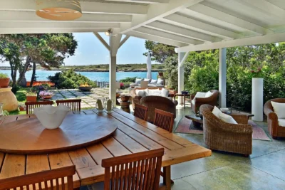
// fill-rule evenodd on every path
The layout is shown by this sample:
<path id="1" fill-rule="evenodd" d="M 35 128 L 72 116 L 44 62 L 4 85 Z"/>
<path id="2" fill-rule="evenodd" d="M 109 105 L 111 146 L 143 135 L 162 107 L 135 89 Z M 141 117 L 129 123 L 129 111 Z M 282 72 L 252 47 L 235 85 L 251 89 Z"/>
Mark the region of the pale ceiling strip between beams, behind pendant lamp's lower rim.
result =
<path id="1" fill-rule="evenodd" d="M 42 19 L 36 16 L 33 11 L 0 11 L 0 21 L 41 21 L 54 22 L 47 19 Z M 122 23 L 130 22 L 132 16 L 123 14 L 83 14 L 80 19 L 75 21 L 58 21 L 58 22 L 90 22 L 90 23 Z"/>

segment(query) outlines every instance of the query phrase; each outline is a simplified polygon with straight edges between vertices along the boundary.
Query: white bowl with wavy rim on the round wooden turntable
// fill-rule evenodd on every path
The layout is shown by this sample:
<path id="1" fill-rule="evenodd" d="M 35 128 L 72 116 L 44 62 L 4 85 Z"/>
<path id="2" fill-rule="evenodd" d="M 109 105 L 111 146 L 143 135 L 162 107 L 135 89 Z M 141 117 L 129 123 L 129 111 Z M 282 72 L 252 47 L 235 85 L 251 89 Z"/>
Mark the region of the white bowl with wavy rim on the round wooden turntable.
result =
<path id="1" fill-rule="evenodd" d="M 61 126 L 69 110 L 69 107 L 65 105 L 58 105 L 57 107 L 45 105 L 35 108 L 33 112 L 43 127 L 46 127 L 48 130 L 55 130 Z"/>

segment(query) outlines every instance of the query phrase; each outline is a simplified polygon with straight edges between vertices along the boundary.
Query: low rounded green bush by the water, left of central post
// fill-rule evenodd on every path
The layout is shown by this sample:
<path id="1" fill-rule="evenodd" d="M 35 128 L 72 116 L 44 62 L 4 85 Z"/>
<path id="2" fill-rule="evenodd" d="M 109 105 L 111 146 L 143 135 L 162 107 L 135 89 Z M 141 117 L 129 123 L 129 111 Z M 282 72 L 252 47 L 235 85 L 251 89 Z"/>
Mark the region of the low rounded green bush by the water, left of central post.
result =
<path id="1" fill-rule="evenodd" d="M 56 84 L 58 89 L 61 88 L 78 88 L 79 85 L 88 83 L 88 85 L 96 88 L 97 85 L 86 76 L 77 74 L 74 70 L 66 70 L 62 73 L 56 73 L 54 76 L 48 76 L 48 80 Z"/>

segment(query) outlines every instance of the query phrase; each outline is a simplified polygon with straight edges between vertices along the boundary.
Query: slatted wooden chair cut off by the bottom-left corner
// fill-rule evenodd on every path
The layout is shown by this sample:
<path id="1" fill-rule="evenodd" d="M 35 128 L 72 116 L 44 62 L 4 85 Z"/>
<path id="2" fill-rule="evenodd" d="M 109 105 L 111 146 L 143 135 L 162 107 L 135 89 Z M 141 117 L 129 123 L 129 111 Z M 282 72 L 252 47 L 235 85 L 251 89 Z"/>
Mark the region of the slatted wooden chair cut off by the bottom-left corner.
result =
<path id="1" fill-rule="evenodd" d="M 73 190 L 74 174 L 76 174 L 76 166 L 70 166 L 27 174 L 24 176 L 0 179 L 0 190 Z M 64 180 L 66 178 L 67 181 Z M 61 183 L 62 181 L 64 181 L 63 184 Z"/>

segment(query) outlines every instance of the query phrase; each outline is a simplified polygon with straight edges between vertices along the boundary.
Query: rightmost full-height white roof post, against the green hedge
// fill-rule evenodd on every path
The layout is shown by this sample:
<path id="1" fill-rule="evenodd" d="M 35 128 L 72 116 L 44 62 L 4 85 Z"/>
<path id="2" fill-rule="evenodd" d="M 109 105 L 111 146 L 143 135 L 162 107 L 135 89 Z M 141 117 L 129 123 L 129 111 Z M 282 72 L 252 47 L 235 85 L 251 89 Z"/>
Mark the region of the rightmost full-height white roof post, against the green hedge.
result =
<path id="1" fill-rule="evenodd" d="M 219 107 L 227 107 L 227 48 L 219 49 Z"/>

